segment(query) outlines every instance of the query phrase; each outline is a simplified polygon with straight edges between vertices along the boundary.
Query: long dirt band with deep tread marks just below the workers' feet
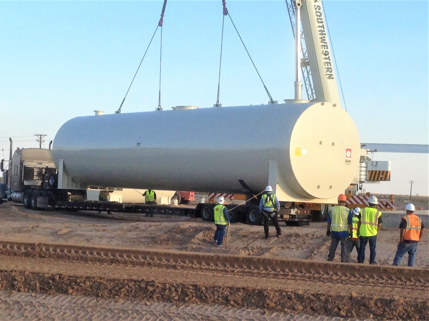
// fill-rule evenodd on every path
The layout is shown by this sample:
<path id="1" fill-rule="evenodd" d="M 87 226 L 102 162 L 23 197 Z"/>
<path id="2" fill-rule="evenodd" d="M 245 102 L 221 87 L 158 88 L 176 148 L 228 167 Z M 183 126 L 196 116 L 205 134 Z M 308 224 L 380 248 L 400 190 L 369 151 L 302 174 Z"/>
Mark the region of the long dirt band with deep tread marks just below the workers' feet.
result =
<path id="1" fill-rule="evenodd" d="M 427 289 L 429 269 L 356 265 L 309 260 L 273 259 L 260 256 L 191 253 L 186 251 L 132 250 L 69 244 L 31 244 L 0 241 L 0 255 L 30 256 L 77 262 L 118 264 L 153 268 L 234 273 L 242 276 L 350 282 L 398 289 Z"/>

